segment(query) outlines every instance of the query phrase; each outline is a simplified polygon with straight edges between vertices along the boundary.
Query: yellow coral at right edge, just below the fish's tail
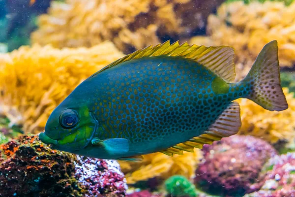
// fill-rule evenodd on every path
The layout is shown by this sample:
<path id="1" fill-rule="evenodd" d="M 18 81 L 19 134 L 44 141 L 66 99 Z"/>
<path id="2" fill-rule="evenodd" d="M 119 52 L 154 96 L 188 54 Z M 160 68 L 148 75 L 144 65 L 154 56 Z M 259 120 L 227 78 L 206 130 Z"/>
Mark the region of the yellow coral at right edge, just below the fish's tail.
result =
<path id="1" fill-rule="evenodd" d="M 241 107 L 242 127 L 239 134 L 250 134 L 270 143 L 279 139 L 295 139 L 295 99 L 294 93 L 283 88 L 289 108 L 284 111 L 273 111 L 262 108 L 249 99 L 237 99 Z"/>

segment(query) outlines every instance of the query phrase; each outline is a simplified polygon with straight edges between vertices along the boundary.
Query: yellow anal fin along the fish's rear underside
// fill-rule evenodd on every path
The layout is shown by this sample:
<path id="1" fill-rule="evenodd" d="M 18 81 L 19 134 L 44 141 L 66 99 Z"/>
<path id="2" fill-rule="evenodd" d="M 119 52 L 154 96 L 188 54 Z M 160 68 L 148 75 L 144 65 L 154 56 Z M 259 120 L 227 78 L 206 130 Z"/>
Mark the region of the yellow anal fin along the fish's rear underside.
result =
<path id="1" fill-rule="evenodd" d="M 220 140 L 222 137 L 228 137 L 238 132 L 241 126 L 240 108 L 237 102 L 231 104 L 222 112 L 214 124 L 210 126 L 208 131 L 200 136 L 193 137 L 192 139 L 177 144 L 173 147 L 160 151 L 169 156 L 181 153 L 182 151 L 194 152 L 194 148 L 203 148 L 204 144 L 212 144 L 213 141 Z M 177 152 L 178 149 L 181 152 Z"/>

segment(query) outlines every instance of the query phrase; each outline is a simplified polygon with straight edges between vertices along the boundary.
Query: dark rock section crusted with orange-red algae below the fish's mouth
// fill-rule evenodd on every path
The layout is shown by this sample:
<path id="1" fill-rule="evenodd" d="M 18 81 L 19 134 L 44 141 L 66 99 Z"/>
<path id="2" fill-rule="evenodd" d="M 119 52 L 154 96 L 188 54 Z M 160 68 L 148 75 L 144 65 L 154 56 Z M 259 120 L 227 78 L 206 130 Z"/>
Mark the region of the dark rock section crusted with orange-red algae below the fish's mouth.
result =
<path id="1" fill-rule="evenodd" d="M 78 181 L 71 179 L 74 158 L 51 150 L 36 136 L 25 135 L 2 144 L 0 153 L 1 197 L 81 196 Z"/>

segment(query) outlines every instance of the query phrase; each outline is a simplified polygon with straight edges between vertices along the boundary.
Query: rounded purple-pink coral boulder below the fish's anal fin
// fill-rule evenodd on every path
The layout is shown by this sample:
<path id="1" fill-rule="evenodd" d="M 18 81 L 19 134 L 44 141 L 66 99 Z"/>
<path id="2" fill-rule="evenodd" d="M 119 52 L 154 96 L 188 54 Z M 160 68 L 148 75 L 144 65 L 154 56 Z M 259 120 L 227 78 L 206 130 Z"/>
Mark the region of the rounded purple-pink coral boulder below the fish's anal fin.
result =
<path id="1" fill-rule="evenodd" d="M 205 162 L 196 170 L 197 185 L 229 197 L 259 190 L 253 184 L 266 161 L 277 154 L 266 141 L 243 135 L 215 141 L 203 151 Z"/>

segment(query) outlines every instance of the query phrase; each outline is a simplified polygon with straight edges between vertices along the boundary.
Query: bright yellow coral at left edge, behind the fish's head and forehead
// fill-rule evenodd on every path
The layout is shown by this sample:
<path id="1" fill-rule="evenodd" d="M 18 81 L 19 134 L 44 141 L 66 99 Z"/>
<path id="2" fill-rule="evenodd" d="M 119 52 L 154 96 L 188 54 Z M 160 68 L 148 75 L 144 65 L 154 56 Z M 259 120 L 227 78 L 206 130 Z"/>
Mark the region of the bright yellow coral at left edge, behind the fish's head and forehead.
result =
<path id="1" fill-rule="evenodd" d="M 53 109 L 84 79 L 121 58 L 111 42 L 62 50 L 23 46 L 0 56 L 0 112 L 24 131 L 41 131 Z"/>

